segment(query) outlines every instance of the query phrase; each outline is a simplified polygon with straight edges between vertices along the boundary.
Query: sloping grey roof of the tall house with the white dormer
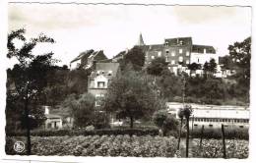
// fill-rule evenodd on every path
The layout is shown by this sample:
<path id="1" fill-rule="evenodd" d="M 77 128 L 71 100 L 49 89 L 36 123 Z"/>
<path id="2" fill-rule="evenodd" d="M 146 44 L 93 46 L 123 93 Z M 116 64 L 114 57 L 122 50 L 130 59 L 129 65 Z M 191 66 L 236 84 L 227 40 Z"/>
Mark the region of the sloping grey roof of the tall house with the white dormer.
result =
<path id="1" fill-rule="evenodd" d="M 95 79 L 99 73 L 100 75 L 103 75 L 107 79 L 110 79 L 116 76 L 118 69 L 119 69 L 119 63 L 116 63 L 116 62 L 96 63 L 96 70 L 92 72 L 90 78 Z M 111 76 L 108 76 L 107 72 L 111 72 Z"/>

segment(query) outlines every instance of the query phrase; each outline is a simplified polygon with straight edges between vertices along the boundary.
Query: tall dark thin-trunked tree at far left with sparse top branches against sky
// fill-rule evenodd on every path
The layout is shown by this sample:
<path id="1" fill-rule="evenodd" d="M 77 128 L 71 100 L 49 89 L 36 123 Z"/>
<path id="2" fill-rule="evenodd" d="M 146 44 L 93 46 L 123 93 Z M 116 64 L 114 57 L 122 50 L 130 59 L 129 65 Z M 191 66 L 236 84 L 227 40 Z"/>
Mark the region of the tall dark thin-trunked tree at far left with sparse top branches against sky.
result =
<path id="1" fill-rule="evenodd" d="M 31 123 L 30 105 L 32 101 L 39 101 L 38 97 L 43 93 L 46 86 L 46 75 L 56 60 L 52 59 L 53 53 L 33 56 L 32 49 L 37 43 L 54 43 L 54 40 L 44 34 L 27 41 L 24 36 L 26 30 L 18 29 L 8 34 L 8 58 L 16 58 L 19 63 L 11 70 L 11 76 L 15 83 L 15 89 L 20 99 L 23 101 L 27 127 L 27 149 L 28 155 L 31 154 Z M 15 39 L 20 39 L 23 45 L 20 49 L 16 48 Z M 8 109 L 8 108 L 7 108 Z"/>

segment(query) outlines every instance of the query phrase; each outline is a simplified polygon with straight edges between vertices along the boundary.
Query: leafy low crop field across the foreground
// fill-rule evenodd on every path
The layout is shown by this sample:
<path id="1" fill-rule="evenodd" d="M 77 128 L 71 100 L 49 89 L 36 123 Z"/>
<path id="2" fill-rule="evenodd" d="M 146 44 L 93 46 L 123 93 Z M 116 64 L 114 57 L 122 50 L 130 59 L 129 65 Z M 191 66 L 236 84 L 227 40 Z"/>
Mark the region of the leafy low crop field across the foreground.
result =
<path id="1" fill-rule="evenodd" d="M 15 141 L 26 142 L 25 136 L 9 136 L 6 139 L 7 154 L 13 150 Z M 222 158 L 222 140 L 205 139 L 200 149 L 200 140 L 191 143 L 190 157 Z M 122 157 L 183 157 L 176 150 L 177 139 L 173 136 L 32 136 L 32 155 L 75 155 L 75 156 L 122 156 Z M 227 158 L 247 158 L 248 140 L 227 139 Z"/>

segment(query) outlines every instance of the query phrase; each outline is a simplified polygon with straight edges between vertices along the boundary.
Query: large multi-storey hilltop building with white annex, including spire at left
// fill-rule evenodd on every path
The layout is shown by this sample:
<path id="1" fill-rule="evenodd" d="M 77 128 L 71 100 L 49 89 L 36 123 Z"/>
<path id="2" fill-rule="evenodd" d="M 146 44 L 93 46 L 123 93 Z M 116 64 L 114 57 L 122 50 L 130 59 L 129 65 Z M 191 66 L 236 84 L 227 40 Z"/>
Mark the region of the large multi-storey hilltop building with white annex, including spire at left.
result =
<path id="1" fill-rule="evenodd" d="M 163 57 L 168 63 L 169 71 L 175 75 L 181 72 L 189 74 L 188 64 L 197 63 L 203 66 L 211 59 L 219 63 L 219 55 L 213 46 L 193 44 L 192 37 L 165 38 L 163 43 L 145 45 L 140 34 L 136 45 L 145 52 L 146 67 L 157 57 Z M 197 72 L 202 74 L 203 71 Z"/>

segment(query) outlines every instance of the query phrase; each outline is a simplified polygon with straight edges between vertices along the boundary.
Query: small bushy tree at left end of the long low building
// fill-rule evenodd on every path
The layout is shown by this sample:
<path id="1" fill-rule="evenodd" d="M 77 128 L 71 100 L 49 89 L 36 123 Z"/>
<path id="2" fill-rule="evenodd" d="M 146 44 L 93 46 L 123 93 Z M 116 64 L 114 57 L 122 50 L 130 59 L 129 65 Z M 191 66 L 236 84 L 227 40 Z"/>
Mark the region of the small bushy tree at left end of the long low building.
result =
<path id="1" fill-rule="evenodd" d="M 154 123 L 160 128 L 162 135 L 166 136 L 168 131 L 177 130 L 178 121 L 167 113 L 166 110 L 159 110 L 153 115 Z"/>

